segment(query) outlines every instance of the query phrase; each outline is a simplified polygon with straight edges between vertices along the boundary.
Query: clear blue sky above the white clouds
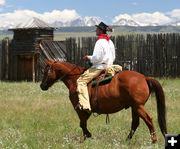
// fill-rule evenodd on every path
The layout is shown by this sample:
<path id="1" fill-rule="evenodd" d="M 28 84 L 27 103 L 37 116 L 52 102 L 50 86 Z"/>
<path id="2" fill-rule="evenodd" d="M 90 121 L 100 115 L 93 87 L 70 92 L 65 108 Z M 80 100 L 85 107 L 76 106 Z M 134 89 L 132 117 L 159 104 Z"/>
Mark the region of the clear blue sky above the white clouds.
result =
<path id="1" fill-rule="evenodd" d="M 6 0 L 1 13 L 29 9 L 39 13 L 56 10 L 76 10 L 81 16 L 99 16 L 110 19 L 128 13 L 169 12 L 180 8 L 180 0 Z"/>

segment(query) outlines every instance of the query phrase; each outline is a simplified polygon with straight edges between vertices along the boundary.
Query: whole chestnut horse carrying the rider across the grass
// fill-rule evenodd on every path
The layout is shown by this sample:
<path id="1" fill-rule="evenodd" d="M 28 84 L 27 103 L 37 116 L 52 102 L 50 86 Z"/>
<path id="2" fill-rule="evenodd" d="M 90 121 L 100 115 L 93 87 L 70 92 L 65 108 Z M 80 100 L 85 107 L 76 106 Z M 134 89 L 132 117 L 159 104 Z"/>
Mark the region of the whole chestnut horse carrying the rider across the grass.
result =
<path id="1" fill-rule="evenodd" d="M 91 137 L 91 133 L 87 129 L 87 120 L 91 113 L 76 108 L 78 104 L 76 80 L 85 71 L 85 68 L 68 62 L 52 60 L 47 60 L 46 64 L 43 80 L 40 84 L 41 89 L 48 90 L 57 80 L 62 80 L 69 89 L 69 98 L 79 116 L 84 139 Z M 132 138 L 139 125 L 139 118 L 142 118 L 149 128 L 153 143 L 157 141 L 156 132 L 152 118 L 146 112 L 144 105 L 151 92 L 155 92 L 159 127 L 163 136 L 167 133 L 165 96 L 162 86 L 157 80 L 145 77 L 135 71 L 122 71 L 117 73 L 110 83 L 99 85 L 98 89 L 89 83 L 88 91 L 92 112 L 111 114 L 131 107 L 132 124 L 127 139 Z M 97 101 L 95 101 L 94 96 L 97 96 Z"/>

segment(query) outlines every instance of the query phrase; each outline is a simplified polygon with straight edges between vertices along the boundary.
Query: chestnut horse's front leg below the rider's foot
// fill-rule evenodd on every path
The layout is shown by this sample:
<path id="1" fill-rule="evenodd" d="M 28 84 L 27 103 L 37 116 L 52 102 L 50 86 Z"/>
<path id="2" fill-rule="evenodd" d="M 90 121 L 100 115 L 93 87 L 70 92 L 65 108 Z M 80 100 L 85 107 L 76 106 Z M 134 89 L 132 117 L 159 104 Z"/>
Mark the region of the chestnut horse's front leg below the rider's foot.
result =
<path id="1" fill-rule="evenodd" d="M 86 138 L 90 138 L 91 133 L 87 129 L 87 120 L 90 117 L 91 113 L 87 113 L 87 112 L 82 111 L 82 110 L 78 110 L 77 113 L 78 113 L 78 116 L 80 119 L 80 127 L 82 128 L 82 131 L 83 131 L 84 140 Z"/>

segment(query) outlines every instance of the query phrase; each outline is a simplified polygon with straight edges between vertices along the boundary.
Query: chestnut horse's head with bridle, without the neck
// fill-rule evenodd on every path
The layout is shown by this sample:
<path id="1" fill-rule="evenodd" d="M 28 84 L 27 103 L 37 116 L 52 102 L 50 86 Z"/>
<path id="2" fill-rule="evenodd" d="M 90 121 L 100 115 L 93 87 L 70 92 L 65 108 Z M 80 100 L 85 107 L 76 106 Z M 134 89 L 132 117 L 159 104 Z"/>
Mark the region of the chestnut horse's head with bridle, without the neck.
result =
<path id="1" fill-rule="evenodd" d="M 55 64 L 55 61 L 47 60 L 46 61 L 46 67 L 44 69 L 43 79 L 40 84 L 40 87 L 42 90 L 48 90 L 49 87 L 51 87 L 54 82 L 58 80 L 56 71 L 53 67 L 53 64 Z"/>

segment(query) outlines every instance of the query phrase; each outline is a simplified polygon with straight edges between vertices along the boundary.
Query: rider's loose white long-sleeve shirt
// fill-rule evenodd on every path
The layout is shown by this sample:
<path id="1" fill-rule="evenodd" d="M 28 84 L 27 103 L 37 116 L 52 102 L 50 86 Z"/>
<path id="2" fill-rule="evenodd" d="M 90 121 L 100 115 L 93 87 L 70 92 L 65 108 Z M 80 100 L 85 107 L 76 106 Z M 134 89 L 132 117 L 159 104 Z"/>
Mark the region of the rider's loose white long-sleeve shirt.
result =
<path id="1" fill-rule="evenodd" d="M 115 60 L 115 47 L 111 40 L 99 39 L 94 46 L 93 54 L 88 56 L 92 68 L 106 69 Z"/>

